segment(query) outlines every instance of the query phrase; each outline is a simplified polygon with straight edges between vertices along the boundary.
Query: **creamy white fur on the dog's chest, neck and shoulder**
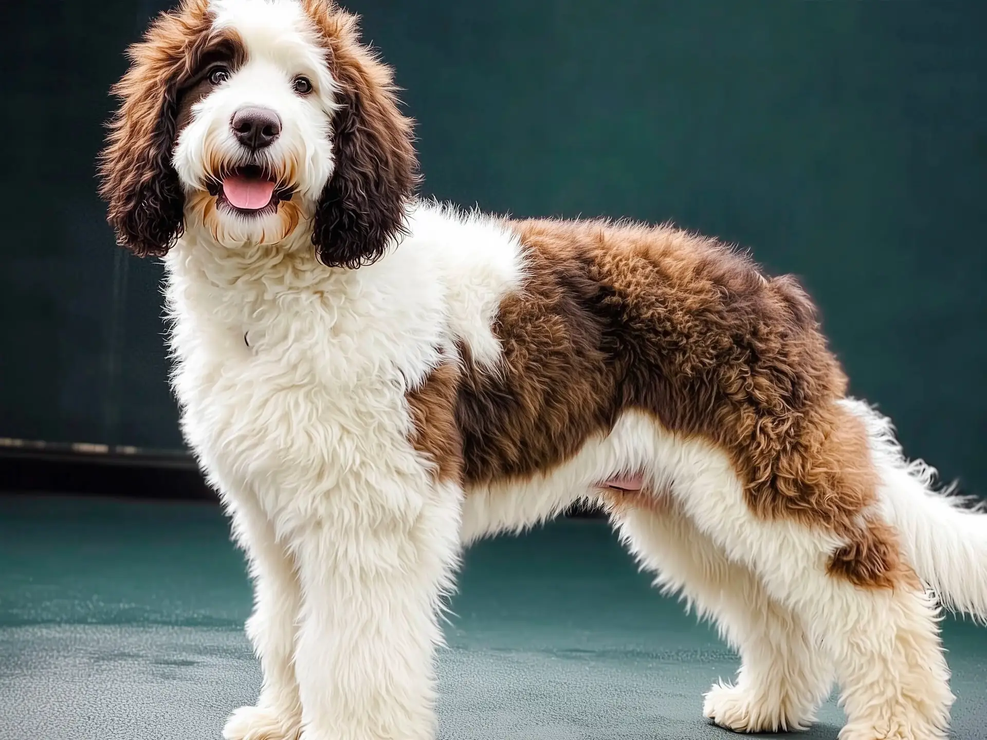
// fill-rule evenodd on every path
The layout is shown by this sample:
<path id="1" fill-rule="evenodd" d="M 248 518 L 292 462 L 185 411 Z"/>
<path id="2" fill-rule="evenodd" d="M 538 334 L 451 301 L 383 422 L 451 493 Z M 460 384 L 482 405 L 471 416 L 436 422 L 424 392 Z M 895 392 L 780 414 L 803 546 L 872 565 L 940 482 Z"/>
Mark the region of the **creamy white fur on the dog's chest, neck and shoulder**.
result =
<path id="1" fill-rule="evenodd" d="M 282 508 L 423 475 L 405 395 L 458 341 L 495 361 L 521 258 L 488 219 L 419 206 L 410 223 L 358 270 L 319 264 L 302 238 L 233 251 L 189 234 L 166 258 L 183 429 L 224 494 Z"/>

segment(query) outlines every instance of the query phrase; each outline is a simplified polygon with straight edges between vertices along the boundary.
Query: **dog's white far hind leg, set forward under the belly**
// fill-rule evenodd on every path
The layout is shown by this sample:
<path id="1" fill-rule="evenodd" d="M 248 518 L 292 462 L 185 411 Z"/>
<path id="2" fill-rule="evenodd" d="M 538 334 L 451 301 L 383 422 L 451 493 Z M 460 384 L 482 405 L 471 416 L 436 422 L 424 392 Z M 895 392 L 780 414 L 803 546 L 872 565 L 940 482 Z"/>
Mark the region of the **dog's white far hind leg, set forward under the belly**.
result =
<path id="1" fill-rule="evenodd" d="M 608 493 L 606 499 L 621 539 L 655 573 L 655 585 L 679 593 L 740 654 L 736 682 L 718 682 L 706 695 L 706 716 L 737 732 L 806 728 L 829 693 L 832 668 L 799 617 L 666 498 Z"/>

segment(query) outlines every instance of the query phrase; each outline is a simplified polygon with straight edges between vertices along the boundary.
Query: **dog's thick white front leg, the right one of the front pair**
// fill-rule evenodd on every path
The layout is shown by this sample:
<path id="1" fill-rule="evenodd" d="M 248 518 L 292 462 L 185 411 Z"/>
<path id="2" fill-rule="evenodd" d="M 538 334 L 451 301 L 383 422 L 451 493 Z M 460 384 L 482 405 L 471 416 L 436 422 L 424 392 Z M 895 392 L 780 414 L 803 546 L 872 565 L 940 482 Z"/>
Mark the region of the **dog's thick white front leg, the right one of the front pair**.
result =
<path id="1" fill-rule="evenodd" d="M 385 487 L 293 537 L 303 740 L 435 734 L 433 653 L 458 559 L 461 494 L 444 483 Z"/>

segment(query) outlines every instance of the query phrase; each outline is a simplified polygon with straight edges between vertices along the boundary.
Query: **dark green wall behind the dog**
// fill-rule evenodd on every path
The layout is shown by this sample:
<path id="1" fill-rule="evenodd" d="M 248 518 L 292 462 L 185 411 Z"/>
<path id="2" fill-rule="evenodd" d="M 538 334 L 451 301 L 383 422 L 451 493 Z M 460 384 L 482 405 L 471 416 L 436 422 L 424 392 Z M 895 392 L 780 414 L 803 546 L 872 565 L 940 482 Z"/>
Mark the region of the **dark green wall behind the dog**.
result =
<path id="1" fill-rule="evenodd" d="M 24 128 L 0 185 L 0 436 L 177 446 L 160 270 L 114 251 L 93 181 L 107 88 L 155 5 L 49 7 L 2 32 Z M 802 277 L 908 452 L 987 491 L 987 4 L 351 7 L 418 118 L 425 192 L 750 247 Z"/>

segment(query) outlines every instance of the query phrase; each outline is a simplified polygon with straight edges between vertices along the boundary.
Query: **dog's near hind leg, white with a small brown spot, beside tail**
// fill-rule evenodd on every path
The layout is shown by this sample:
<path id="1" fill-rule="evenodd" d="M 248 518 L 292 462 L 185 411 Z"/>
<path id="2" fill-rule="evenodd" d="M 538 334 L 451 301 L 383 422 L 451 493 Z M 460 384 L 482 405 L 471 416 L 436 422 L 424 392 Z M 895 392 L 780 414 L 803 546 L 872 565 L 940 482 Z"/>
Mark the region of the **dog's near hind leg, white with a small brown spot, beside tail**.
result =
<path id="1" fill-rule="evenodd" d="M 664 452 L 661 467 L 686 516 L 750 567 L 831 656 L 848 720 L 841 740 L 946 737 L 952 695 L 939 611 L 900 559 L 893 531 L 860 518 L 858 540 L 849 540 L 794 516 L 759 517 L 727 456 L 698 440 Z"/>

